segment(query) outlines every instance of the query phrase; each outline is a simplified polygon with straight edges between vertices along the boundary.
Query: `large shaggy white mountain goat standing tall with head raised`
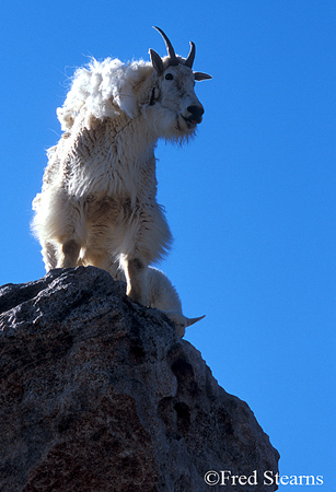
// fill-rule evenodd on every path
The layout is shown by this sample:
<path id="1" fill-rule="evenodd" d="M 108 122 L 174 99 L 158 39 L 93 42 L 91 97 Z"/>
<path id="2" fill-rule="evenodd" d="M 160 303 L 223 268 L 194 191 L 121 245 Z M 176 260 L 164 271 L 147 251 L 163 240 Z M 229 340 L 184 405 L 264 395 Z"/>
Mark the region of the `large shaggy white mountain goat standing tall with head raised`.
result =
<path id="1" fill-rule="evenodd" d="M 193 71 L 194 43 L 184 59 L 154 28 L 166 57 L 150 49 L 150 62 L 93 59 L 76 71 L 32 223 L 46 270 L 92 265 L 115 278 L 123 270 L 127 294 L 143 305 L 148 267 L 172 241 L 155 200 L 155 143 L 194 136 L 204 114 L 194 84 L 211 79 Z"/>

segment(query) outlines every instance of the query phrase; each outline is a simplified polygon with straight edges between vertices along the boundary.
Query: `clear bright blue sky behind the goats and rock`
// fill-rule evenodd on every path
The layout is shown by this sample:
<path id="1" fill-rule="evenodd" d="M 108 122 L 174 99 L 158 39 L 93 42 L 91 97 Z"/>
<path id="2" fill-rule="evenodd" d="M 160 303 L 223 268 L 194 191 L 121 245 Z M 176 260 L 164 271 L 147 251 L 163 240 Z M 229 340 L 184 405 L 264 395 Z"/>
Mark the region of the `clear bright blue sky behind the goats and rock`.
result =
<path id="1" fill-rule="evenodd" d="M 0 19 L 0 283 L 45 273 L 31 201 L 74 68 L 90 55 L 164 55 L 152 25 L 183 56 L 194 40 L 194 67 L 213 80 L 196 86 L 206 108 L 197 139 L 158 145 L 159 202 L 175 238 L 160 268 L 185 314 L 207 315 L 185 338 L 247 401 L 281 454 L 281 475 L 323 476 L 327 492 L 336 465 L 335 22 L 329 0 L 96 0 L 94 10 L 85 0 L 11 0 Z"/>

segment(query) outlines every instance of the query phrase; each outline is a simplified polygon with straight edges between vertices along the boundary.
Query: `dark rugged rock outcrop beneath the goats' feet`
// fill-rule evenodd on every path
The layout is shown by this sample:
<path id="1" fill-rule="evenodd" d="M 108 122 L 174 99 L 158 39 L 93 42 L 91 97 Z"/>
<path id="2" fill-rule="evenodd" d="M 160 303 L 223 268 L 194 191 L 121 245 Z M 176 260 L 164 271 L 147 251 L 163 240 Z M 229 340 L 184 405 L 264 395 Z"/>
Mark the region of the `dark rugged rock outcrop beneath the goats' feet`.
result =
<path id="1" fill-rule="evenodd" d="M 277 489 L 263 476 L 279 455 L 247 405 L 107 272 L 4 285 L 0 312 L 2 492 Z M 211 488 L 208 470 L 258 484 Z"/>

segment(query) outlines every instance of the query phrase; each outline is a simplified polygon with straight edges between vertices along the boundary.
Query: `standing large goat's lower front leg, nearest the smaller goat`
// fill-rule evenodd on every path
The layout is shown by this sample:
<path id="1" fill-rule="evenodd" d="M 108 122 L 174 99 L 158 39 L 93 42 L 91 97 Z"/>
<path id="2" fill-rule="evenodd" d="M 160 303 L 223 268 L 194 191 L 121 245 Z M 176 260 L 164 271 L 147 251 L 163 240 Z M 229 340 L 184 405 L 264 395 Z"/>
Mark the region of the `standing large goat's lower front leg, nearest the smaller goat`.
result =
<path id="1" fill-rule="evenodd" d="M 147 265 L 139 258 L 125 260 L 124 271 L 127 281 L 127 295 L 134 302 L 147 305 Z"/>

